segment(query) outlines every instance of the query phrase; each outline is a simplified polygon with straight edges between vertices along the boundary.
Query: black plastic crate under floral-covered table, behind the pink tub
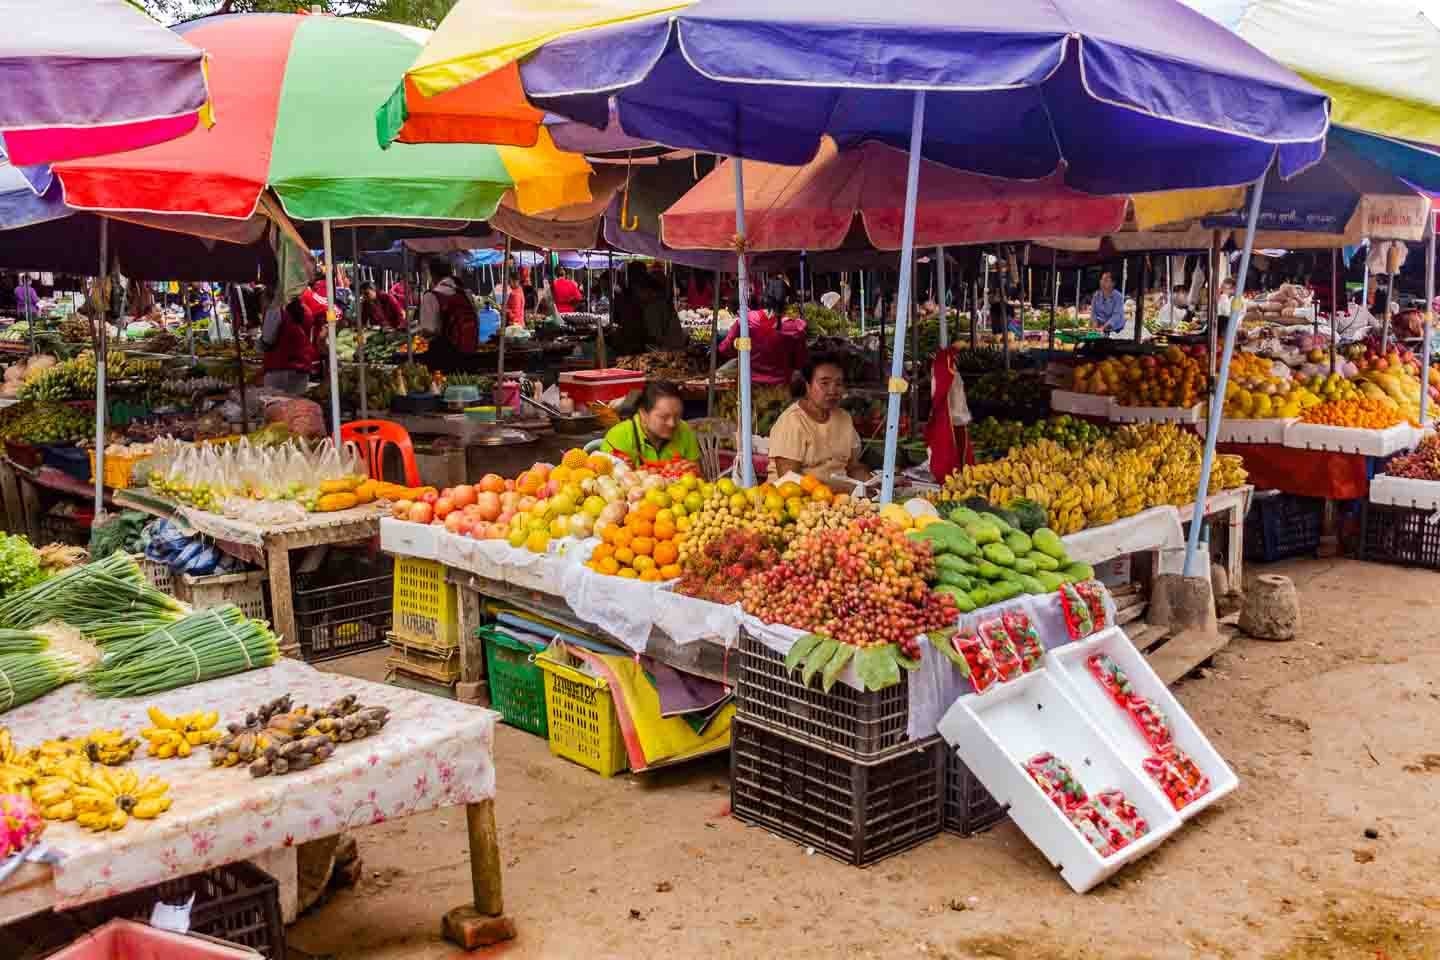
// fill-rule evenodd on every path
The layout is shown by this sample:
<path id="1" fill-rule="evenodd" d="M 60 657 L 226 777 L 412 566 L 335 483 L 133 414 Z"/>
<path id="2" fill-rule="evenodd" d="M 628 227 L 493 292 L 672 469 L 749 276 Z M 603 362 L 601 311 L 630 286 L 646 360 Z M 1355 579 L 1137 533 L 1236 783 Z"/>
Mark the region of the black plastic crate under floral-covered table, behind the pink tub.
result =
<path id="1" fill-rule="evenodd" d="M 157 902 L 180 904 L 194 894 L 190 933 L 251 947 L 268 960 L 285 960 L 279 884 L 248 862 L 167 879 L 66 911 L 46 911 L 0 931 L 0 956 L 43 957 L 111 920 L 150 921 Z M 19 953 L 10 953 L 17 948 Z"/>

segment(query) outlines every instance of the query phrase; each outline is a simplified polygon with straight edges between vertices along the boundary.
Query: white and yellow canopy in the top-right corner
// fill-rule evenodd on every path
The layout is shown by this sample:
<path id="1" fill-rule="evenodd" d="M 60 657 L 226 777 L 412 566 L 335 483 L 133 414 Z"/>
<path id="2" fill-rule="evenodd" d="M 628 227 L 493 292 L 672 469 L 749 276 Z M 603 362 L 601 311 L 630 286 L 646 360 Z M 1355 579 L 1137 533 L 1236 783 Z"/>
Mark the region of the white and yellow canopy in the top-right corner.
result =
<path id="1" fill-rule="evenodd" d="M 1440 142 L 1440 29 L 1417 0 L 1184 0 L 1332 98 L 1344 127 Z"/>

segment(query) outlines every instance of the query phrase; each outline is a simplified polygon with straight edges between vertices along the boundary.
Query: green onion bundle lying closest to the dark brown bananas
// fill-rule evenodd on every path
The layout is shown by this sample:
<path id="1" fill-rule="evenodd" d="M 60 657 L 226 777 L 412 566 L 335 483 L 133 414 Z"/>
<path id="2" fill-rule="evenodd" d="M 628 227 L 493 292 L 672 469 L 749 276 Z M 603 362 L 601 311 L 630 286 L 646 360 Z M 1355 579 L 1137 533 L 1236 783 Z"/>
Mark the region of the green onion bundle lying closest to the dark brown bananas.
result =
<path id="1" fill-rule="evenodd" d="M 96 697 L 143 697 L 269 666 L 278 656 L 269 626 L 226 603 L 107 646 L 85 682 Z"/>

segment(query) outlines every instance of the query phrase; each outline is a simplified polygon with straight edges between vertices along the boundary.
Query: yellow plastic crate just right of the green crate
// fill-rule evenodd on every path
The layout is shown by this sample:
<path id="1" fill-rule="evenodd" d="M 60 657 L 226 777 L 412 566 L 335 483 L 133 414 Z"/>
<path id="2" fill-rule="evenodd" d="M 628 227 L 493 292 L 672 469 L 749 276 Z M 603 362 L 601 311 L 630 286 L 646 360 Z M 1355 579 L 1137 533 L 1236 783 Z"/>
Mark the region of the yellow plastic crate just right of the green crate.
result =
<path id="1" fill-rule="evenodd" d="M 544 712 L 550 753 L 613 777 L 629 767 L 621 721 L 609 684 L 554 658 L 569 655 L 550 648 L 536 656 L 544 672 Z"/>

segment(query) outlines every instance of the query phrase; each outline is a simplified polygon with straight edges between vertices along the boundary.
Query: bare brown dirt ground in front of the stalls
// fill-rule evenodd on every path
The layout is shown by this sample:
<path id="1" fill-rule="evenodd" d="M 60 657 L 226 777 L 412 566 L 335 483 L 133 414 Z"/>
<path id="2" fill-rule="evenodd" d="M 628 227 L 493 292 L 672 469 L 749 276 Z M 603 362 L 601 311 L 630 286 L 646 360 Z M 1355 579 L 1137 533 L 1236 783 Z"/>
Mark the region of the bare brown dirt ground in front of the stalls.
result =
<path id="1" fill-rule="evenodd" d="M 1084 897 L 1009 823 L 860 871 L 730 819 L 724 759 L 603 780 L 501 727 L 497 818 L 520 937 L 491 953 L 1440 959 L 1440 574 L 1266 571 L 1295 579 L 1300 638 L 1238 639 L 1176 688 L 1240 790 Z M 291 944 L 343 960 L 459 956 L 439 917 L 469 894 L 464 815 L 357 838 L 363 882 L 302 917 Z"/>

